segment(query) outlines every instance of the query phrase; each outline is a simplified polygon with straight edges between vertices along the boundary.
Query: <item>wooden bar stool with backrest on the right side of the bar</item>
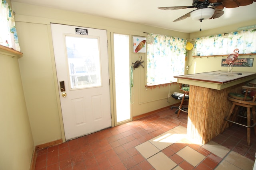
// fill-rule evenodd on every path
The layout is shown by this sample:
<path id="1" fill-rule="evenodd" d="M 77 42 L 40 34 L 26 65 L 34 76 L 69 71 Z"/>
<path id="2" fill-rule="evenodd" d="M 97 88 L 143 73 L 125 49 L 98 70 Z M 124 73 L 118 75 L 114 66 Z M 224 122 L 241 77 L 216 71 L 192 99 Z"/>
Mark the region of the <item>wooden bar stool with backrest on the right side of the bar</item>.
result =
<path id="1" fill-rule="evenodd" d="M 247 145 L 250 146 L 251 138 L 250 138 L 250 129 L 251 127 L 254 127 L 254 133 L 256 135 L 256 83 L 249 83 L 252 85 L 250 86 L 242 86 L 242 90 L 245 90 L 245 94 L 237 94 L 237 93 L 229 93 L 228 94 L 228 100 L 232 102 L 232 106 L 230 109 L 230 112 L 228 113 L 228 116 L 224 118 L 226 121 L 224 121 L 224 125 L 221 129 L 221 133 L 223 133 L 224 129 L 227 127 L 228 122 L 230 122 L 230 125 L 232 123 L 235 123 L 237 125 L 242 125 L 244 127 L 247 127 Z M 249 93 L 250 92 L 250 93 Z M 239 107 L 245 107 L 246 108 L 246 116 L 243 116 L 239 114 Z M 251 118 L 251 109 L 252 109 L 252 118 Z M 247 119 L 246 124 L 241 124 L 239 121 L 236 120 L 236 117 L 243 117 Z M 251 120 L 253 123 L 251 123 Z M 229 126 L 229 125 L 228 125 Z"/>

